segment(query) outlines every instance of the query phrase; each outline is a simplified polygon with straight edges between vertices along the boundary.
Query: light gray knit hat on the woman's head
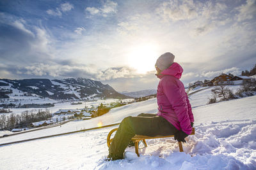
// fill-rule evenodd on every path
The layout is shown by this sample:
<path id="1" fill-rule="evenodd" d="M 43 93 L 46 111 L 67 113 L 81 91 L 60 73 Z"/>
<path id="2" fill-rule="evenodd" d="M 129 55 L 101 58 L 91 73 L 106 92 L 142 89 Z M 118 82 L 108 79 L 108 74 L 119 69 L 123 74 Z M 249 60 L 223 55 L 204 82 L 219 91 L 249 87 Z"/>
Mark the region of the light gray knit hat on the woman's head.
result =
<path id="1" fill-rule="evenodd" d="M 161 69 L 167 69 L 173 64 L 174 55 L 170 52 L 166 52 L 156 60 L 156 66 Z"/>

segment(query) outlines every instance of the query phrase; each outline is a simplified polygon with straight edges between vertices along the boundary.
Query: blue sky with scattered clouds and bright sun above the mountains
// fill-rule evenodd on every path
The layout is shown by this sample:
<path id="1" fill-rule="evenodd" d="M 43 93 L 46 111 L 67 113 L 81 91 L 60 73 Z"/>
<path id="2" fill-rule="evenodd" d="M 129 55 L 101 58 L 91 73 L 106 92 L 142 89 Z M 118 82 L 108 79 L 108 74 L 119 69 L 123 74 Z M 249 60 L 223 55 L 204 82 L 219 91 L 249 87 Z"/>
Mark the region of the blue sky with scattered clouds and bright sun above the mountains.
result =
<path id="1" fill-rule="evenodd" d="M 181 81 L 256 64 L 256 0 L 0 0 L 0 78 L 90 78 L 115 90 L 157 89 L 172 52 Z"/>

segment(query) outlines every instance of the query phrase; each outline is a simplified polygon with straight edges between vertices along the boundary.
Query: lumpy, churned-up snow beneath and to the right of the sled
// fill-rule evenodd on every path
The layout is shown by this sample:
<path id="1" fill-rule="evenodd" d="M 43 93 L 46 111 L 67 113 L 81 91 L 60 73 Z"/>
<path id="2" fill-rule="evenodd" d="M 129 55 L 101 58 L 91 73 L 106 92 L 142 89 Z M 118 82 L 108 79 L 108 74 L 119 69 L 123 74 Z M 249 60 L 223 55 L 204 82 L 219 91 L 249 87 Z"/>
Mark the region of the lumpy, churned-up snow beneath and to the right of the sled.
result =
<path id="1" fill-rule="evenodd" d="M 140 157 L 102 160 L 95 169 L 255 169 L 255 123 L 195 127 L 195 136 L 183 143 L 183 153 L 173 138 L 149 139 Z M 238 146 L 232 144 L 234 139 L 241 141 Z M 134 147 L 127 150 L 134 152 Z"/>

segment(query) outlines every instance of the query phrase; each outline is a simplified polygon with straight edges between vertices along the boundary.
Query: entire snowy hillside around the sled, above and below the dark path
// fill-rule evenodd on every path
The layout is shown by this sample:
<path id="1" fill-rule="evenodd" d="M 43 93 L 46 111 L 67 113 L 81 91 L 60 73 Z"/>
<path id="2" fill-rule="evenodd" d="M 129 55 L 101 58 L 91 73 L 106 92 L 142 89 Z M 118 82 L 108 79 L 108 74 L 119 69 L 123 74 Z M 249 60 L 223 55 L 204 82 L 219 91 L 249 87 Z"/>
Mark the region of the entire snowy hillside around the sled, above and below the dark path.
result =
<path id="1" fill-rule="evenodd" d="M 113 126 L 0 146 L 1 169 L 256 169 L 256 96 L 206 105 L 210 94 L 211 88 L 189 96 L 196 131 L 186 139 L 182 153 L 173 138 L 150 139 L 139 150 L 140 157 L 106 161 L 106 136 L 118 127 Z M 0 143 L 88 129 L 99 122 L 114 124 L 129 115 L 156 111 L 156 99 L 150 99 L 90 120 L 0 138 Z M 134 152 L 134 147 L 126 151 Z"/>

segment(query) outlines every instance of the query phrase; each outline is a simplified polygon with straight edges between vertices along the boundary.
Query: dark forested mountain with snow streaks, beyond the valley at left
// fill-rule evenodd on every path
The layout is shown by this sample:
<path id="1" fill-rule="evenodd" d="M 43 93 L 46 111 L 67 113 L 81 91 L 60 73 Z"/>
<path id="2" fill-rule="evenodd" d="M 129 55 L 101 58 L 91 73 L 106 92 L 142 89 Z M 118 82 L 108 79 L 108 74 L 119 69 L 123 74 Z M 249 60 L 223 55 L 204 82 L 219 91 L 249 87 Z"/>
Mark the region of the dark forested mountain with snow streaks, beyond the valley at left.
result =
<path id="1" fill-rule="evenodd" d="M 129 97 L 119 94 L 111 86 L 104 85 L 100 81 L 86 78 L 67 79 L 24 79 L 8 80 L 0 79 L 0 98 L 8 98 L 10 95 L 39 96 L 50 99 L 92 99 Z M 8 96 L 9 95 L 9 96 Z"/>

